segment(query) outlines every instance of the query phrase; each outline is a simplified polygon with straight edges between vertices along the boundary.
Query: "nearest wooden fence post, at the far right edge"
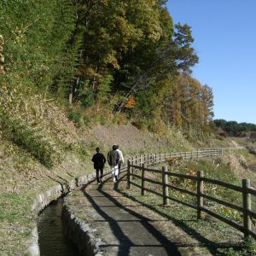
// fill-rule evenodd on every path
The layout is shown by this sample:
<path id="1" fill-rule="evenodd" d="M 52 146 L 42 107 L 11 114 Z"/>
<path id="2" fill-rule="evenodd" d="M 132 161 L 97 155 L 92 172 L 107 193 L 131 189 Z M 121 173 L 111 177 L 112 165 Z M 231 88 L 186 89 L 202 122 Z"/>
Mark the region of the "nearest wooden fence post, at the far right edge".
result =
<path id="1" fill-rule="evenodd" d="M 252 220 L 248 214 L 248 210 L 251 211 L 251 195 L 247 192 L 250 187 L 249 179 L 242 179 L 242 206 L 243 206 L 243 234 L 247 238 L 249 231 L 252 230 Z"/>

